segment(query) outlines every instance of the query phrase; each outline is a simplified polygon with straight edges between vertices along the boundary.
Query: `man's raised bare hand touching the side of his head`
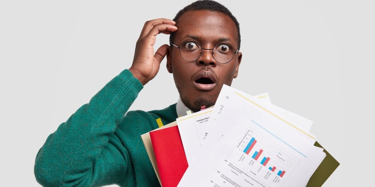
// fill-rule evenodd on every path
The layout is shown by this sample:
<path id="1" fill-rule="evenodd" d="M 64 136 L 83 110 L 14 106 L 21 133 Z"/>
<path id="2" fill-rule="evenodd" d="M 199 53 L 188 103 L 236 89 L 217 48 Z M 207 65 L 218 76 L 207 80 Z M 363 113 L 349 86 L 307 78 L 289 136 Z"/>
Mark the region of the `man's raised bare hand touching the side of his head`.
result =
<path id="1" fill-rule="evenodd" d="M 156 35 L 160 33 L 171 34 L 171 32 L 177 30 L 175 24 L 172 20 L 162 18 L 145 22 L 135 46 L 133 64 L 129 68 L 129 71 L 142 85 L 156 76 L 160 68 L 160 62 L 168 50 L 168 45 L 165 44 L 154 53 Z"/>

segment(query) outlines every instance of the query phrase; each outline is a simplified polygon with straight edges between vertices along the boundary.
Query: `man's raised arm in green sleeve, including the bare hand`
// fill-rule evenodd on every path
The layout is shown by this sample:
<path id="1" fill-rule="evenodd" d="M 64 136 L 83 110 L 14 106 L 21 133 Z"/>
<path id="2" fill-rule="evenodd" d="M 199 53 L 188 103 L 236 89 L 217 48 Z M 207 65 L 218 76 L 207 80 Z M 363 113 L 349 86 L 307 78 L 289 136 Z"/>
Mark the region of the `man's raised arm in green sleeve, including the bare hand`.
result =
<path id="1" fill-rule="evenodd" d="M 129 166 L 127 147 L 115 131 L 142 85 L 156 76 L 166 55 L 166 45 L 154 53 L 156 35 L 177 30 L 174 24 L 168 19 L 147 21 L 136 44 L 132 67 L 114 77 L 48 136 L 35 160 L 34 174 L 40 184 L 103 186 L 127 180 L 124 178 L 133 166 Z M 139 125 L 136 116 L 124 118 L 134 128 Z"/>

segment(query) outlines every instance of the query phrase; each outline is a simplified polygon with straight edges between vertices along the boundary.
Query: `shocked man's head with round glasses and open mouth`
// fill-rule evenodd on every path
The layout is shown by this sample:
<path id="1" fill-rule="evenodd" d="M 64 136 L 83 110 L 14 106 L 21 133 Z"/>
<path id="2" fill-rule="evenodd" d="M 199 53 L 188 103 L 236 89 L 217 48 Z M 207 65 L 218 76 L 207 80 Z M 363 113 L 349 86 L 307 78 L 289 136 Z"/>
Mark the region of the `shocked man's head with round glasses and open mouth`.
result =
<path id="1" fill-rule="evenodd" d="M 167 69 L 184 104 L 193 111 L 215 104 L 223 84 L 231 85 L 242 59 L 239 24 L 226 7 L 196 1 L 177 13 Z"/>

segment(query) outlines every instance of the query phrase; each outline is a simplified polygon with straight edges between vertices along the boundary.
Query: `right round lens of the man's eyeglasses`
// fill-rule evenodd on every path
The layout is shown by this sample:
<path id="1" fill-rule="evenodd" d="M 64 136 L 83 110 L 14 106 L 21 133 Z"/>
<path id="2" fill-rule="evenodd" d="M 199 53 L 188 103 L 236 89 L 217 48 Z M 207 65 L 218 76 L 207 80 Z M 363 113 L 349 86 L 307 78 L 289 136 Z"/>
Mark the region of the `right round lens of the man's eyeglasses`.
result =
<path id="1" fill-rule="evenodd" d="M 234 48 L 228 42 L 217 43 L 213 48 L 213 58 L 221 64 L 228 63 L 233 59 L 233 56 Z"/>

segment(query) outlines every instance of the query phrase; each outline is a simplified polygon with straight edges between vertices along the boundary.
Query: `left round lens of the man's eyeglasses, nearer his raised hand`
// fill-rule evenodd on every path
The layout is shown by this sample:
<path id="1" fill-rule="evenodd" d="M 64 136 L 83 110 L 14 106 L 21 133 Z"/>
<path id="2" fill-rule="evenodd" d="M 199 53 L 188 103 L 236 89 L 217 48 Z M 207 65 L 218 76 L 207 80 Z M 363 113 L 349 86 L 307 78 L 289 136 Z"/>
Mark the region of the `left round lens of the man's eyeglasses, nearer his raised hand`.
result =
<path id="1" fill-rule="evenodd" d="M 201 46 L 194 40 L 187 40 L 181 44 L 180 53 L 187 61 L 195 61 L 201 56 Z"/>

